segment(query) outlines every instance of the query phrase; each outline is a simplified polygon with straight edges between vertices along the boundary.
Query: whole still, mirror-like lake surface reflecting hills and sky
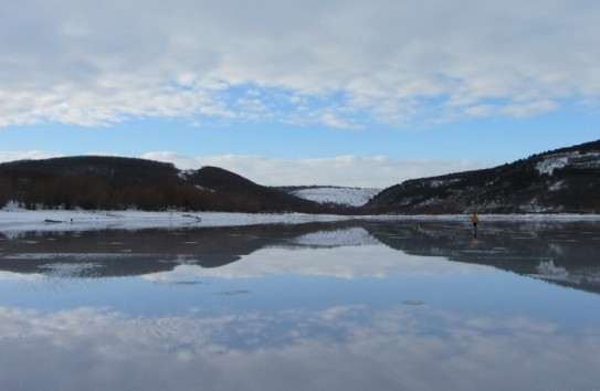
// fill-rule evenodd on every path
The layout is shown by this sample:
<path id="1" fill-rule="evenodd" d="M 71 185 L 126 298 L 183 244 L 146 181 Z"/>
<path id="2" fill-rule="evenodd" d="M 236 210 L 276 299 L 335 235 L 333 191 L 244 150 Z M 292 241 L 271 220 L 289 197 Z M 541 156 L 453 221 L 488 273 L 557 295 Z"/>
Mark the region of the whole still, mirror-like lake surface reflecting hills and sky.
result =
<path id="1" fill-rule="evenodd" d="M 0 385 L 598 390 L 599 254 L 600 221 L 0 234 Z"/>

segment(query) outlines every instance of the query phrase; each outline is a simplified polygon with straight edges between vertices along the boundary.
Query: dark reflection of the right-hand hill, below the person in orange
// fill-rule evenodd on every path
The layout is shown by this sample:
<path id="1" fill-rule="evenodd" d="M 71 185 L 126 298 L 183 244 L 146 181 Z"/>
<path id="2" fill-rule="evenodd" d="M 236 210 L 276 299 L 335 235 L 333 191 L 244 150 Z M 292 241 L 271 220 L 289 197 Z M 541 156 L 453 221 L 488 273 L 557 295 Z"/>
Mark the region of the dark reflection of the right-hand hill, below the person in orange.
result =
<path id="1" fill-rule="evenodd" d="M 490 265 L 559 285 L 600 293 L 598 222 L 493 222 L 473 237 L 462 223 L 377 225 L 370 233 L 408 254 Z"/>

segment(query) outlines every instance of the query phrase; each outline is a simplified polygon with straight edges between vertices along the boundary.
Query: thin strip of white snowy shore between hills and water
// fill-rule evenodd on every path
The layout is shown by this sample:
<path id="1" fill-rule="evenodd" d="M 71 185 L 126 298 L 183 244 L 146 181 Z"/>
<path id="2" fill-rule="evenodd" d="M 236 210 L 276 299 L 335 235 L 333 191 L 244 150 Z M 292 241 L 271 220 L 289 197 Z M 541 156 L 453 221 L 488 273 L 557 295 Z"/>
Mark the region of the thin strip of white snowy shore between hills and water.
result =
<path id="1" fill-rule="evenodd" d="M 485 221 L 600 221 L 600 214 L 485 214 Z M 465 214 L 445 215 L 334 215 L 304 213 L 141 212 L 80 210 L 0 210 L 0 232 L 91 231 L 303 224 L 313 222 L 455 221 L 469 222 Z"/>

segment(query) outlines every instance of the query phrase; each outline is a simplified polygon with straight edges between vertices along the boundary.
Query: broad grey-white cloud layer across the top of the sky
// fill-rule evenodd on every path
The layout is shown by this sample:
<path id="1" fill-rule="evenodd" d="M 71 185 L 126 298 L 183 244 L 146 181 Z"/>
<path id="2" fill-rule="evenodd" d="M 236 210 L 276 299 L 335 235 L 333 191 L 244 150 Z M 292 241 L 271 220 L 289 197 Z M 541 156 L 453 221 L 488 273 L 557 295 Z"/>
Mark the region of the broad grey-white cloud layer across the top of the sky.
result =
<path id="1" fill-rule="evenodd" d="M 356 113 L 402 126 L 600 95 L 594 0 L 0 1 L 0 126 L 138 116 L 339 126 Z M 482 107 L 490 98 L 505 104 Z"/>

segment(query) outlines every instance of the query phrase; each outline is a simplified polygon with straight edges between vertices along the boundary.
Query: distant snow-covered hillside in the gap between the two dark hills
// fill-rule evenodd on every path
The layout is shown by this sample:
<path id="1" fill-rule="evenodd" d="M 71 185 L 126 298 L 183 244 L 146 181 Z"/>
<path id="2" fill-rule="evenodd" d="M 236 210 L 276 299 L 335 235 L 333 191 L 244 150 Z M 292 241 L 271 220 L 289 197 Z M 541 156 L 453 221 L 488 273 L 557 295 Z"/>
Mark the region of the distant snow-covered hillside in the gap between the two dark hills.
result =
<path id="1" fill-rule="evenodd" d="M 293 191 L 292 194 L 319 203 L 336 203 L 347 207 L 362 207 L 381 189 L 372 188 L 308 188 Z"/>

